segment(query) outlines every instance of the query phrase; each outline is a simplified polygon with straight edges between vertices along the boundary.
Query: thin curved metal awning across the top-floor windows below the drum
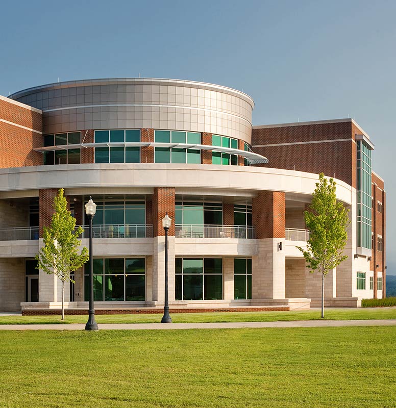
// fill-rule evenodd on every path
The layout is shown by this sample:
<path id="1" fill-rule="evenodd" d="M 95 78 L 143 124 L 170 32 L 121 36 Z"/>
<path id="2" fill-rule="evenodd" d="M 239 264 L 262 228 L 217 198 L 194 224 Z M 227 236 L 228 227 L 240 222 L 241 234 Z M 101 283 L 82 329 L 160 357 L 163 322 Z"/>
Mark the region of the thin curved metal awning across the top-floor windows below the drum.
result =
<path id="1" fill-rule="evenodd" d="M 54 150 L 70 150 L 88 147 L 165 147 L 177 149 L 195 149 L 195 150 L 212 150 L 230 155 L 238 155 L 248 160 L 250 164 L 268 163 L 268 159 L 264 156 L 253 153 L 252 151 L 233 149 L 230 147 L 209 146 L 206 144 L 192 143 L 159 143 L 159 142 L 105 142 L 105 143 L 78 143 L 64 144 L 60 146 L 36 147 L 35 151 L 54 151 Z"/>

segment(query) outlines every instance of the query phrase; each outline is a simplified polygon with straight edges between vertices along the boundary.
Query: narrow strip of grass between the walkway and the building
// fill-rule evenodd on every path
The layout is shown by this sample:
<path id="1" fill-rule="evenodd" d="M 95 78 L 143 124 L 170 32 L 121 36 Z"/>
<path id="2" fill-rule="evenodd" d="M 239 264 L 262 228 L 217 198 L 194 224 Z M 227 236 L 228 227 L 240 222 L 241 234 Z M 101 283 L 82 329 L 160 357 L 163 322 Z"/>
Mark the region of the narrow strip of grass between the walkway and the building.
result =
<path id="1" fill-rule="evenodd" d="M 96 315 L 97 323 L 159 323 L 158 315 Z M 300 312 L 229 312 L 229 313 L 174 313 L 174 323 L 205 322 L 272 322 L 320 319 L 320 311 Z M 325 309 L 325 318 L 330 320 L 396 319 L 394 309 Z M 86 323 L 86 316 L 66 316 L 65 323 Z M 0 324 L 61 323 L 60 316 L 0 316 Z"/>

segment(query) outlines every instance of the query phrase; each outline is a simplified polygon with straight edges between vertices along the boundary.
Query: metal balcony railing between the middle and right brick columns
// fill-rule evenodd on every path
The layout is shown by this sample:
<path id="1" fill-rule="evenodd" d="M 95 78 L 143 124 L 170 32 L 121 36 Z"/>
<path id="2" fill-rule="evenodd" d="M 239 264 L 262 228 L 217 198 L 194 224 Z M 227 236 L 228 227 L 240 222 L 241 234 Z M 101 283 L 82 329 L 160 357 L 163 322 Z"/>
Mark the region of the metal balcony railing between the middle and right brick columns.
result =
<path id="1" fill-rule="evenodd" d="M 176 225 L 176 238 L 256 238 L 254 226 L 240 225 Z"/>

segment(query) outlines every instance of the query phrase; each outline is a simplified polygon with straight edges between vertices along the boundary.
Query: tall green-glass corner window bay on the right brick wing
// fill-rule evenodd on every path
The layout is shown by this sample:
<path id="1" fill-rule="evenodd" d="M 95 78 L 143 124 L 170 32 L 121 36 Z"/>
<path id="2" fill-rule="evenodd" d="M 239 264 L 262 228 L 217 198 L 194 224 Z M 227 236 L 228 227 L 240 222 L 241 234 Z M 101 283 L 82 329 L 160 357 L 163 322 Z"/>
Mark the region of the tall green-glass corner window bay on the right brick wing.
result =
<path id="1" fill-rule="evenodd" d="M 372 249 L 372 151 L 363 140 L 357 140 L 357 185 L 358 246 Z"/>

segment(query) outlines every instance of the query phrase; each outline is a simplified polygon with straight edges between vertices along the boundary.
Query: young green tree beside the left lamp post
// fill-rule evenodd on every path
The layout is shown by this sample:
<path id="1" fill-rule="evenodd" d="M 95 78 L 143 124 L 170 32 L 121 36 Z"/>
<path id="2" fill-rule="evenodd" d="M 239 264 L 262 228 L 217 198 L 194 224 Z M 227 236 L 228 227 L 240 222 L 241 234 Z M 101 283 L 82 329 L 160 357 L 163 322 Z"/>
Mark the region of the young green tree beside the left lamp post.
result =
<path id="1" fill-rule="evenodd" d="M 76 219 L 67 210 L 67 201 L 63 188 L 54 199 L 54 214 L 50 228 L 43 228 L 44 246 L 36 255 L 38 269 L 45 273 L 55 274 L 62 282 L 62 320 L 64 314 L 65 282 L 71 281 L 70 272 L 81 268 L 88 261 L 88 249 L 84 247 L 79 253 L 81 241 L 78 239 L 84 230 L 81 226 L 75 229 Z"/>

